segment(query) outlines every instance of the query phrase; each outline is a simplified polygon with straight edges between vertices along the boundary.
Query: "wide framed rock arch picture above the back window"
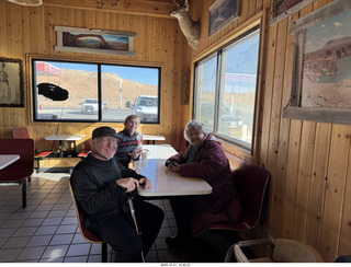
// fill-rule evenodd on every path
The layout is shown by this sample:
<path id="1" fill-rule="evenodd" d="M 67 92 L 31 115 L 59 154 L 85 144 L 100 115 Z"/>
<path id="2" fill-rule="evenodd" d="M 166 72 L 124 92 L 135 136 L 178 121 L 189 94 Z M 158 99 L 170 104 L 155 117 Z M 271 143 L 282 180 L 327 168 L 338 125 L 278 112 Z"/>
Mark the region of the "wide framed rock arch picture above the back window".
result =
<path id="1" fill-rule="evenodd" d="M 136 56 L 133 38 L 136 33 L 55 26 L 58 51 Z"/>

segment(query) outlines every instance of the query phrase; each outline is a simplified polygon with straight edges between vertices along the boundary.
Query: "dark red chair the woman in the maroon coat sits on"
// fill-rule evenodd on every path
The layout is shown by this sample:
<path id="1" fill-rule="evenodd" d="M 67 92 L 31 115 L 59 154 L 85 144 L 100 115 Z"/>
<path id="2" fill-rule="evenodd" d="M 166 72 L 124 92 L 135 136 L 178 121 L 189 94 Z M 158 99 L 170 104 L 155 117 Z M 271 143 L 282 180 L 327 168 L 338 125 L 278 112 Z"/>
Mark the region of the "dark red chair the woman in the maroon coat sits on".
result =
<path id="1" fill-rule="evenodd" d="M 251 162 L 242 161 L 240 166 L 234 170 L 233 178 L 241 202 L 241 219 L 237 223 L 211 224 L 208 228 L 212 230 L 246 231 L 259 222 L 269 173 Z"/>

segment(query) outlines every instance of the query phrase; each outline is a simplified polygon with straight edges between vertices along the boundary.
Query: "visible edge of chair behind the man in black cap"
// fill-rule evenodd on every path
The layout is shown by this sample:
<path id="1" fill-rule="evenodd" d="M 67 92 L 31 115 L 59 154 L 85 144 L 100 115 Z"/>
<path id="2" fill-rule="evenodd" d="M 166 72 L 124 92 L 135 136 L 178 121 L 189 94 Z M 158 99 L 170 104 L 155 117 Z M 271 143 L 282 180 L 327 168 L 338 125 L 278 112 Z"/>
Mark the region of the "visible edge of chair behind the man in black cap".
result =
<path id="1" fill-rule="evenodd" d="M 92 232 L 90 232 L 84 227 L 84 213 L 82 212 L 82 210 L 77 205 L 75 193 L 73 193 L 73 189 L 72 189 L 72 186 L 71 186 L 71 183 L 70 183 L 70 178 L 68 179 L 68 188 L 69 188 L 69 191 L 70 191 L 70 194 L 72 196 L 72 199 L 73 199 L 73 205 L 75 205 L 75 208 L 76 208 L 76 214 L 77 214 L 77 219 L 78 219 L 78 227 L 79 227 L 79 230 L 80 230 L 80 234 L 89 243 L 101 244 L 102 263 L 107 263 L 107 243 L 105 243 L 105 242 L 101 241 L 100 239 L 98 239 Z"/>

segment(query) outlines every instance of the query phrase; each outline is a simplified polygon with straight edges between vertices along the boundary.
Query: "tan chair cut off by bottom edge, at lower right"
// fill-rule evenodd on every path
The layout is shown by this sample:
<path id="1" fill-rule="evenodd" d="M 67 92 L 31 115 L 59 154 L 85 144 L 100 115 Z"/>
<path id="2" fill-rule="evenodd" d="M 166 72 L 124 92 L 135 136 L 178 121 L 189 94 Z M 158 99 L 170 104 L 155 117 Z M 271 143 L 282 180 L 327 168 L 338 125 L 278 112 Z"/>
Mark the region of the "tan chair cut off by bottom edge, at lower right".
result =
<path id="1" fill-rule="evenodd" d="M 264 246 L 259 257 L 248 257 L 242 248 Z M 295 240 L 260 239 L 240 241 L 231 245 L 225 263 L 230 263 L 233 254 L 237 263 L 324 263 L 320 254 L 312 246 Z"/>

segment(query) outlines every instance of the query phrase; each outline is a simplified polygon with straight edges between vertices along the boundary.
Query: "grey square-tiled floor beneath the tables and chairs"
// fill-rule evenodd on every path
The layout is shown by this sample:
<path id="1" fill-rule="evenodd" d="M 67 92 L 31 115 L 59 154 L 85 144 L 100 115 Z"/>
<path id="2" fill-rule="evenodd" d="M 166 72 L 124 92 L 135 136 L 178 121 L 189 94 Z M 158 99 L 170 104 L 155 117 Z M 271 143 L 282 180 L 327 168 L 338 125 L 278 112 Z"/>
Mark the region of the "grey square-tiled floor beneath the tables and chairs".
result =
<path id="1" fill-rule="evenodd" d="M 0 263 L 101 263 L 101 245 L 88 243 L 79 233 L 67 178 L 67 174 L 32 177 L 24 209 L 21 186 L 0 184 Z M 183 252 L 165 243 L 177 231 L 169 201 L 150 201 L 166 217 L 146 262 L 186 263 Z M 110 247 L 109 252 L 111 255 Z"/>

